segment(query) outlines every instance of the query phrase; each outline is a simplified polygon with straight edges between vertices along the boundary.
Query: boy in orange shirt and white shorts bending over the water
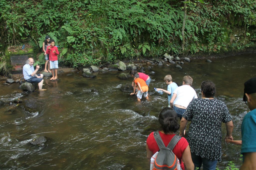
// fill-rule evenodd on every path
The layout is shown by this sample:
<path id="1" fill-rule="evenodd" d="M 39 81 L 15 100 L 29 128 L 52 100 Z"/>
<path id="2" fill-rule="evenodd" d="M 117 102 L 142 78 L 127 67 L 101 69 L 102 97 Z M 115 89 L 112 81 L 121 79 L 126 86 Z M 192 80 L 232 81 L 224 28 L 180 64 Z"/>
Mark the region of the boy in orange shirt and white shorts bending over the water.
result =
<path id="1" fill-rule="evenodd" d="M 134 75 L 134 82 L 136 83 L 137 89 L 138 89 L 137 101 L 141 101 L 142 94 L 148 100 L 148 96 L 147 96 L 148 86 L 147 86 L 145 80 L 141 79 L 139 74 L 136 73 Z M 133 95 L 133 94 L 134 93 L 131 93 L 130 95 Z"/>

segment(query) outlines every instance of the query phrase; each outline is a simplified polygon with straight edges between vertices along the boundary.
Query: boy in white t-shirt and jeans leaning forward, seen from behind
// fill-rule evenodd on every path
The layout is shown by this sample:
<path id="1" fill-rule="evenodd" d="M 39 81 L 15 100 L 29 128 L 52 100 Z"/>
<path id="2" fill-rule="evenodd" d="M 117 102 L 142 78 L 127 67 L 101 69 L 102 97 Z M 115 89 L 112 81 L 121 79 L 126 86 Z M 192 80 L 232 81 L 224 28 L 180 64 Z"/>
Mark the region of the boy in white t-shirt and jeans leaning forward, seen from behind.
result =
<path id="1" fill-rule="evenodd" d="M 180 119 L 182 118 L 188 104 L 193 99 L 197 98 L 196 91 L 191 87 L 192 83 L 192 77 L 184 76 L 182 86 L 177 87 L 174 90 L 172 99 L 170 100 L 170 106 L 173 107 Z"/>

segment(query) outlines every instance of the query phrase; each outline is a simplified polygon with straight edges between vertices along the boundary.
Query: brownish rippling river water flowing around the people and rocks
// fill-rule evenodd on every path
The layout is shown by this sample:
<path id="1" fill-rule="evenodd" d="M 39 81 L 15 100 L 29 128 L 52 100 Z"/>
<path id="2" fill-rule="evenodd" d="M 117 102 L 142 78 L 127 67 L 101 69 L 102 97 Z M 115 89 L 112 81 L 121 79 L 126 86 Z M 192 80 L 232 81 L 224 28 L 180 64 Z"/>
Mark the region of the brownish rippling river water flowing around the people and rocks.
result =
<path id="1" fill-rule="evenodd" d="M 45 80 L 47 91 L 32 93 L 19 90 L 19 84 L 1 84 L 0 169 L 149 169 L 147 135 L 158 129 L 158 113 L 168 106 L 167 95 L 159 95 L 154 87 L 166 89 L 167 74 L 178 86 L 183 76 L 190 75 L 198 97 L 201 82 L 212 80 L 216 98 L 226 103 L 232 115 L 232 136 L 241 140 L 242 119 L 249 111 L 242 101 L 243 83 L 256 76 L 255 54 L 211 60 L 192 60 L 181 65 L 183 69 L 170 64 L 147 70 L 144 65 L 146 74 L 155 74 L 150 74 L 150 101 L 143 97 L 141 103 L 120 90 L 122 84 L 132 82 L 132 78 L 120 80 L 121 71 L 99 73 L 93 79 L 83 78 L 78 71 L 65 72 L 57 82 Z M 23 102 L 11 104 L 15 98 Z M 224 138 L 225 124 L 222 134 Z M 38 136 L 50 140 L 44 147 L 28 144 Z M 222 151 L 220 169 L 228 161 L 240 167 L 239 145 L 222 140 Z"/>

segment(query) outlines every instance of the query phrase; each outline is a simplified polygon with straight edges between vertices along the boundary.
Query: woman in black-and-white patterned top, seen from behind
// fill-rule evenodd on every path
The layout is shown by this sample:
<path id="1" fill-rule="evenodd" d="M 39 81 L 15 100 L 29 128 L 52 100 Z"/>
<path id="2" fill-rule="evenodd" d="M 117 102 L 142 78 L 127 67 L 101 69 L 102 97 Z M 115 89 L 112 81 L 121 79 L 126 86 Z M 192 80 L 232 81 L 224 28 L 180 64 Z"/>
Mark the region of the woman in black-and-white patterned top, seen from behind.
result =
<path id="1" fill-rule="evenodd" d="M 187 141 L 191 149 L 191 157 L 195 168 L 204 170 L 216 169 L 217 161 L 221 161 L 221 123 L 226 123 L 226 139 L 233 140 L 233 122 L 224 102 L 214 99 L 215 84 L 203 81 L 202 98 L 192 100 L 180 121 L 180 136 L 184 136 L 187 122 L 189 126 Z"/>

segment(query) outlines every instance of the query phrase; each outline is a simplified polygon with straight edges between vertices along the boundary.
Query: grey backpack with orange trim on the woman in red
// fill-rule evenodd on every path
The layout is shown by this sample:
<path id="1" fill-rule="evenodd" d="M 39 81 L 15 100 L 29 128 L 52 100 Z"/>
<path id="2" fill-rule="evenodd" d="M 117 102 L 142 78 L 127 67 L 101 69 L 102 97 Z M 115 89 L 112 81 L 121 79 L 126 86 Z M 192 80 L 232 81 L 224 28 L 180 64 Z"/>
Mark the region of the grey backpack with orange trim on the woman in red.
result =
<path id="1" fill-rule="evenodd" d="M 170 170 L 179 170 L 180 163 L 177 156 L 173 153 L 173 148 L 181 139 L 180 136 L 175 135 L 172 140 L 169 142 L 167 147 L 165 147 L 161 136 L 159 135 L 159 131 L 154 132 L 154 138 L 159 147 L 159 151 L 157 154 L 154 154 L 154 165 L 153 169 L 170 169 Z M 152 157 L 153 157 L 152 156 Z"/>

